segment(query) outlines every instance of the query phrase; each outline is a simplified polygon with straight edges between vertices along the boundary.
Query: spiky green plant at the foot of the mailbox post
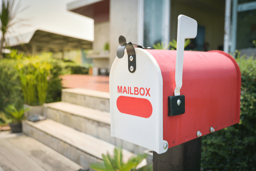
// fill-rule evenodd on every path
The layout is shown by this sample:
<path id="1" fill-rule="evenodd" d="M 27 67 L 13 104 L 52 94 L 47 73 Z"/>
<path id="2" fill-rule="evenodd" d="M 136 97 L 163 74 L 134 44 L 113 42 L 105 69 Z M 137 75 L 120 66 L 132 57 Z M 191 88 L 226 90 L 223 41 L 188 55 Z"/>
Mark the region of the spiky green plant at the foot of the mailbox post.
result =
<path id="1" fill-rule="evenodd" d="M 92 163 L 92 167 L 96 171 L 136 171 L 136 167 L 141 161 L 147 158 L 148 154 L 138 154 L 136 157 L 132 157 L 127 163 L 123 162 L 122 148 L 114 149 L 114 157 L 112 158 L 109 154 L 102 154 L 102 161 Z M 152 165 L 144 166 L 137 171 L 152 171 Z"/>

